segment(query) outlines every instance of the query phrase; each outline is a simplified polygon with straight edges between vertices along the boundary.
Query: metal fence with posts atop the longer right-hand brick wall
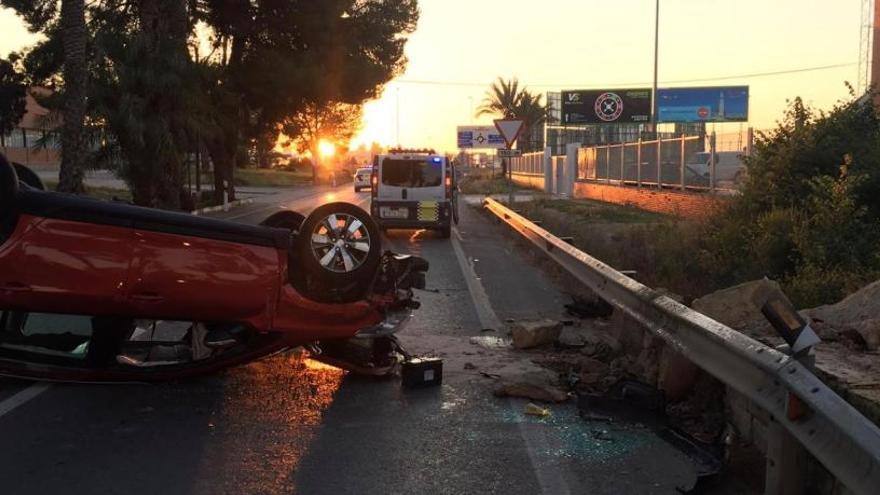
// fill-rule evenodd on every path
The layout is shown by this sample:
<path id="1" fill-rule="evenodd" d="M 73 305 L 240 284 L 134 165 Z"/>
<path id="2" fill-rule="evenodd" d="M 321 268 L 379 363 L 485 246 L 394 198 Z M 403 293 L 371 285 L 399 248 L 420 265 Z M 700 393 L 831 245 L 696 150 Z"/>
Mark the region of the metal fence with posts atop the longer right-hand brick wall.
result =
<path id="1" fill-rule="evenodd" d="M 577 176 L 637 187 L 732 189 L 743 177 L 742 155 L 719 151 L 713 137 L 639 140 L 581 148 Z"/>

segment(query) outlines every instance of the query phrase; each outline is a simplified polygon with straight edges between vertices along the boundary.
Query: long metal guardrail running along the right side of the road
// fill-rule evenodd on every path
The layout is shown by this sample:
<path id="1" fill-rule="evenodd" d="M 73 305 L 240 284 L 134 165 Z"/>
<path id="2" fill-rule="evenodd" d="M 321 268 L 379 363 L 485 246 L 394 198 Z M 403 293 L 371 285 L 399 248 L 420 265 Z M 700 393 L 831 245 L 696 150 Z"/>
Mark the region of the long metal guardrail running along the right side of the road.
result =
<path id="1" fill-rule="evenodd" d="M 617 272 L 498 201 L 483 204 L 596 294 L 767 411 L 852 492 L 880 493 L 880 429 L 801 363 Z M 809 413 L 790 419 L 792 399 Z"/>

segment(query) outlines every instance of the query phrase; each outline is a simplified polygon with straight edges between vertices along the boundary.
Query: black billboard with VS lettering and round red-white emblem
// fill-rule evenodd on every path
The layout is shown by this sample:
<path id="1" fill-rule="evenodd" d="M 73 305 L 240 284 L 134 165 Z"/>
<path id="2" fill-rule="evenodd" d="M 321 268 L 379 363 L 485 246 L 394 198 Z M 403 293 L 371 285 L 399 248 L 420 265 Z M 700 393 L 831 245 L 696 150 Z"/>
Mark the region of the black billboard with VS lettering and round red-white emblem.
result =
<path id="1" fill-rule="evenodd" d="M 562 92 L 562 124 L 633 124 L 651 121 L 650 89 Z"/>

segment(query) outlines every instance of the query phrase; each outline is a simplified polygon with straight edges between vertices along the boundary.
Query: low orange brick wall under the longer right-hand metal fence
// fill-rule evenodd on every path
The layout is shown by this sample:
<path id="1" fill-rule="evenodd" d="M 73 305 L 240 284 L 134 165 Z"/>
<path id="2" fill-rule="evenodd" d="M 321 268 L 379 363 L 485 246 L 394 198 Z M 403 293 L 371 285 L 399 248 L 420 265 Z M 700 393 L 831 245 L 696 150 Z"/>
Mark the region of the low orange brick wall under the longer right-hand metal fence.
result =
<path id="1" fill-rule="evenodd" d="M 709 194 L 658 191 L 592 182 L 577 182 L 574 188 L 576 198 L 629 204 L 643 210 L 686 218 L 703 217 L 725 201 L 724 197 Z"/>

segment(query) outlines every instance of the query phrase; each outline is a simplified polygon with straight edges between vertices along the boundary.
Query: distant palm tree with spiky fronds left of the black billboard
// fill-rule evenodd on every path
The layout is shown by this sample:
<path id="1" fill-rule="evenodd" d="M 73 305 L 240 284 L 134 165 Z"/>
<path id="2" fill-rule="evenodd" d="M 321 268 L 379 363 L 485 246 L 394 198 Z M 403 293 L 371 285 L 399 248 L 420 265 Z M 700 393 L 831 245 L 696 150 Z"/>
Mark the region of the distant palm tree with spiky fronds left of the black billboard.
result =
<path id="1" fill-rule="evenodd" d="M 520 119 L 525 122 L 523 134 L 530 136 L 532 129 L 537 129 L 547 122 L 548 110 L 541 100 L 543 96 L 533 94 L 525 87 L 520 87 L 517 78 L 505 81 L 499 77 L 489 86 L 486 97 L 477 109 L 477 117 L 483 115 L 499 115 L 505 119 Z M 532 139 L 521 139 L 517 148 L 523 151 L 533 151 L 537 143 Z"/>

